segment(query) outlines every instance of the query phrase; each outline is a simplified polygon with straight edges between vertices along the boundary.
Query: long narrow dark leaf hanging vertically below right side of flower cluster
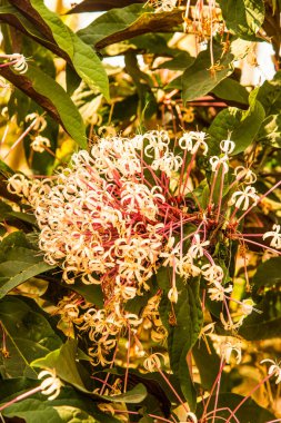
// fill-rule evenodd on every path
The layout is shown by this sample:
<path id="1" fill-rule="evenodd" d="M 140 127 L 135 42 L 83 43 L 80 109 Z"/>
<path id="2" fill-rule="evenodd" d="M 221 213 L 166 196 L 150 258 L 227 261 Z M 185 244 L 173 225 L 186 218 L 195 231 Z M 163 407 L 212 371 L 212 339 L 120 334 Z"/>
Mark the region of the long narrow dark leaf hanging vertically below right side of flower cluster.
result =
<path id="1" fill-rule="evenodd" d="M 199 299 L 199 283 L 194 279 L 188 284 L 177 281 L 179 291 L 178 303 L 171 309 L 171 303 L 163 295 L 160 303 L 160 316 L 168 329 L 168 352 L 173 373 L 179 377 L 181 388 L 191 410 L 195 409 L 195 392 L 189 374 L 187 354 L 198 340 L 202 326 L 202 309 Z M 169 315 L 174 313 L 174 325 L 169 322 Z"/>

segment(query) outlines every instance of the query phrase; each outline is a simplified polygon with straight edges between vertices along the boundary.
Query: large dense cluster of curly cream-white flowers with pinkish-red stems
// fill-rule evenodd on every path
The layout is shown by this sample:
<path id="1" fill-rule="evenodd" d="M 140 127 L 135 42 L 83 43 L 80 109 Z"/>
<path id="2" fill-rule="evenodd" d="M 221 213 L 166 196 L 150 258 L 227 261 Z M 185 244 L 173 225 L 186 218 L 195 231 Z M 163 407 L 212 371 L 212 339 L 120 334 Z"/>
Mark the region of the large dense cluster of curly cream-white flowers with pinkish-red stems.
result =
<path id="1" fill-rule="evenodd" d="M 106 289 L 114 282 L 114 294 L 123 299 L 148 287 L 162 250 L 165 198 L 157 177 L 153 186 L 144 180 L 142 151 L 152 169 L 169 176 L 180 166 L 169 141 L 163 130 L 102 138 L 91 154 L 73 155 L 70 168 L 53 179 L 10 178 L 10 191 L 26 197 L 34 210 L 44 259 L 61 264 L 67 283 L 80 275 L 96 284 L 93 275 L 102 275 Z"/>

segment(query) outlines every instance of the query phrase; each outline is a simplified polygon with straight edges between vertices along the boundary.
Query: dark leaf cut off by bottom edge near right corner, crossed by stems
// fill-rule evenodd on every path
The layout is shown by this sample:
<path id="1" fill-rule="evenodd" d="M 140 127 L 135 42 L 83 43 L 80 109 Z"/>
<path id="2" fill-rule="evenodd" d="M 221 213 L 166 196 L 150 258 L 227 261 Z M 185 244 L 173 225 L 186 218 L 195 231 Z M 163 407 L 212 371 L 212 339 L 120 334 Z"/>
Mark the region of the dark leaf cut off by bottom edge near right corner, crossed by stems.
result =
<path id="1" fill-rule="evenodd" d="M 219 394 L 219 401 L 218 405 L 215 404 L 215 395 L 211 397 L 208 412 L 211 412 L 215 409 L 224 409 L 222 411 L 217 412 L 217 419 L 215 422 L 225 421 L 229 416 L 231 411 L 233 411 L 241 401 L 244 400 L 244 396 L 238 395 L 238 394 L 230 394 L 230 393 L 220 393 Z M 205 402 L 204 402 L 205 403 Z M 215 405 L 214 405 L 215 404 Z M 203 414 L 203 403 L 200 403 L 198 405 L 197 410 L 197 416 L 198 420 L 202 419 Z M 212 415 L 209 414 L 209 417 L 211 419 Z M 232 417 L 230 420 L 230 423 L 265 423 L 274 420 L 275 417 L 272 413 L 270 413 L 268 410 L 261 407 L 257 404 L 255 401 L 249 399 L 245 401 L 245 403 L 235 412 L 235 419 Z"/>

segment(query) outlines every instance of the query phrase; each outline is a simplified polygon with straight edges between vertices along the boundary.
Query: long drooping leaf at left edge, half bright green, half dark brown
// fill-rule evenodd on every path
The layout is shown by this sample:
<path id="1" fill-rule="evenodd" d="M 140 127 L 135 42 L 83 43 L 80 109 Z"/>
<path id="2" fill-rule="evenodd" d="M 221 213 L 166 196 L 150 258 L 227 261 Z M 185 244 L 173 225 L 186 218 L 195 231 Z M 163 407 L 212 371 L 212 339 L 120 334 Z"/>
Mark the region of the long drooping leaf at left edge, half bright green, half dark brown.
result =
<path id="1" fill-rule="evenodd" d="M 0 68 L 0 75 L 46 109 L 51 117 L 63 126 L 79 146 L 87 147 L 82 118 L 59 83 L 33 65 L 29 65 L 24 75 L 16 73 L 9 68 Z"/>

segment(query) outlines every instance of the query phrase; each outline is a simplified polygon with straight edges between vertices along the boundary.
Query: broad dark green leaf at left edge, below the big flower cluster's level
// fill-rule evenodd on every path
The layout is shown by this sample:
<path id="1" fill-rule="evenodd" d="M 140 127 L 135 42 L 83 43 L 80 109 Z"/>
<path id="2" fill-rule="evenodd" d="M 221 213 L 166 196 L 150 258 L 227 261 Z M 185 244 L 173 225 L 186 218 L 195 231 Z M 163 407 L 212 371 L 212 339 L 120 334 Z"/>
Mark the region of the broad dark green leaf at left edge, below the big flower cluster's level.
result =
<path id="1" fill-rule="evenodd" d="M 61 345 L 60 337 L 42 314 L 16 296 L 0 301 L 0 321 L 10 353 L 10 357 L 2 362 L 2 373 L 6 377 L 37 377 L 30 363 L 58 348 Z"/>

